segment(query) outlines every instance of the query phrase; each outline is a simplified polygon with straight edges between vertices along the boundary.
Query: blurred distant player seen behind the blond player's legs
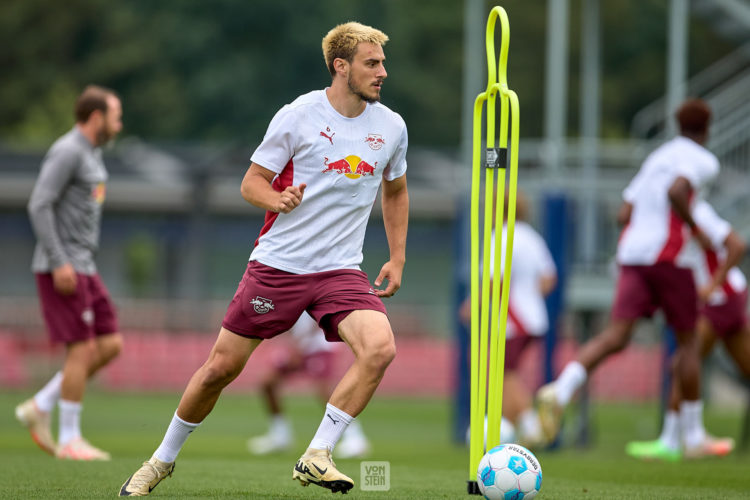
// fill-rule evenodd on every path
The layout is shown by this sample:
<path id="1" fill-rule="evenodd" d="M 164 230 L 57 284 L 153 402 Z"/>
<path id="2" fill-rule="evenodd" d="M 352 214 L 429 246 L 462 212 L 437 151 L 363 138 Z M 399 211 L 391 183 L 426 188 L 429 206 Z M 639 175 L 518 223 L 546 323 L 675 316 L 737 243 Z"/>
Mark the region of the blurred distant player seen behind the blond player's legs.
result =
<path id="1" fill-rule="evenodd" d="M 335 345 L 328 342 L 325 333 L 309 314 L 302 313 L 291 330 L 291 340 L 286 350 L 274 360 L 273 368 L 263 377 L 261 388 L 271 422 L 266 434 L 251 438 L 247 442 L 250 453 L 266 455 L 288 450 L 294 441 L 289 420 L 284 416 L 279 398 L 279 387 L 294 375 L 307 377 L 315 384 L 315 391 L 323 402 L 328 402 L 332 387 L 332 368 Z M 352 420 L 344 431 L 341 442 L 336 445 L 339 458 L 361 457 L 369 453 L 370 443 L 362 432 L 358 420 Z"/>

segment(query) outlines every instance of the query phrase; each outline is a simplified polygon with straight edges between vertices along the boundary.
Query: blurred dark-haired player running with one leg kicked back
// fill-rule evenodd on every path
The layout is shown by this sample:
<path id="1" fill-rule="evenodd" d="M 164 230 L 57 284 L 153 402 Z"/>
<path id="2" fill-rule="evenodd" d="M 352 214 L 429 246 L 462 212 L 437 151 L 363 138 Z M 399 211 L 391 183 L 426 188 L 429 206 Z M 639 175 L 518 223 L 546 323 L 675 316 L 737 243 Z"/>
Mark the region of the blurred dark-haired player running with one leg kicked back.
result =
<path id="1" fill-rule="evenodd" d="M 549 439 L 560 429 L 564 408 L 591 372 L 630 342 L 638 319 L 661 309 L 677 339 L 675 374 L 683 401 L 680 422 L 685 449 L 704 448 L 700 399 L 701 363 L 695 334 L 698 301 L 684 247 L 691 233 L 702 246 L 711 243 L 696 225 L 691 200 L 719 171 L 719 161 L 703 147 L 711 111 L 688 99 L 677 111 L 680 135 L 652 152 L 623 193 L 618 220 L 627 224 L 617 245 L 617 278 L 610 321 L 581 346 L 576 361 L 537 393 L 539 414 Z"/>

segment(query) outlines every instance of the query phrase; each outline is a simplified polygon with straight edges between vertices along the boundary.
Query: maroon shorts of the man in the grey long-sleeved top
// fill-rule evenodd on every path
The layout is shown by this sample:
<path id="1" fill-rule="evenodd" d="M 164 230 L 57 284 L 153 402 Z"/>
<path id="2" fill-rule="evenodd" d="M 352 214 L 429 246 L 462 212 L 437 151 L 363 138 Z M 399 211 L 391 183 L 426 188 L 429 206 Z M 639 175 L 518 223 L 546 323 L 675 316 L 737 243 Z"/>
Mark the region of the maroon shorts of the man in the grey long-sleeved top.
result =
<path id="1" fill-rule="evenodd" d="M 55 290 L 52 273 L 37 273 L 36 287 L 52 342 L 81 342 L 118 331 L 115 306 L 98 274 L 78 274 L 72 295 Z"/>

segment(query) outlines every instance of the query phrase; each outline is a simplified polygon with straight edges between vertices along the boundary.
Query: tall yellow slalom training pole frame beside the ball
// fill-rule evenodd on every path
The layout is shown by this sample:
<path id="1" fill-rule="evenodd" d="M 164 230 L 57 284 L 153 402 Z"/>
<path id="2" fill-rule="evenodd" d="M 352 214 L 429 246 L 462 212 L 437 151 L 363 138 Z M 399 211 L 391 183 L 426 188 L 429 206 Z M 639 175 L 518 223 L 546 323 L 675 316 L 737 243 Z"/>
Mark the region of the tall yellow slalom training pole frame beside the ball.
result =
<path id="1" fill-rule="evenodd" d="M 495 24 L 501 24 L 499 64 L 495 63 Z M 508 16 L 495 7 L 487 20 L 487 89 L 474 102 L 472 178 L 471 178 L 471 408 L 469 445 L 469 493 L 479 494 L 477 468 L 486 449 L 499 444 L 500 417 L 505 361 L 505 329 L 508 315 L 510 269 L 516 216 L 518 177 L 518 97 L 508 89 L 507 61 L 510 41 Z M 495 147 L 496 98 L 500 95 L 499 147 Z M 482 112 L 487 102 L 486 157 L 484 175 L 484 223 L 480 270 L 479 211 L 481 204 L 481 134 Z M 510 164 L 508 168 L 508 118 L 510 115 Z M 495 170 L 498 171 L 497 185 Z M 507 172 L 509 170 L 509 172 Z M 503 239 L 503 220 L 508 175 L 507 229 Z M 494 208 L 494 211 L 493 211 Z M 494 238 L 494 239 L 493 239 Z M 502 242 L 505 241 L 505 248 Z M 503 267 L 504 266 L 504 267 Z M 493 277 L 497 270 L 502 275 Z M 501 279 L 502 276 L 502 279 Z M 493 279 L 494 278 L 494 279 Z M 480 293 L 481 280 L 481 293 Z M 502 285 L 502 286 L 501 286 Z M 485 436 L 485 417 L 487 431 Z M 486 441 L 485 441 L 486 440 Z M 485 447 L 486 442 L 486 447 Z"/>

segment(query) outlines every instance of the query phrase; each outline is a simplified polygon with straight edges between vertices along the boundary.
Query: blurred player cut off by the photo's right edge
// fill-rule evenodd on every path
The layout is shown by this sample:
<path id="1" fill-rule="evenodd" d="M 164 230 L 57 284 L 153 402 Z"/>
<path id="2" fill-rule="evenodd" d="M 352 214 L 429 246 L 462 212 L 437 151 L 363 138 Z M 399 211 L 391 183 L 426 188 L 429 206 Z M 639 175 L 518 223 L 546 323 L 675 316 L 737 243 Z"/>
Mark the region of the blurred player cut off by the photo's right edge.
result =
<path id="1" fill-rule="evenodd" d="M 701 358 L 706 358 L 721 340 L 740 374 L 750 379 L 750 324 L 747 319 L 747 280 L 736 266 L 745 255 L 746 243 L 719 217 L 713 207 L 698 200 L 693 218 L 711 240 L 712 248 L 690 242 L 689 258 L 701 302 L 697 331 Z M 655 441 L 628 443 L 626 452 L 636 458 L 679 460 L 683 456 L 680 425 L 680 386 L 672 377 L 669 408 L 664 415 L 661 435 Z M 731 438 L 714 438 L 705 429 L 701 447 L 686 449 L 686 458 L 727 455 L 734 449 Z"/>

